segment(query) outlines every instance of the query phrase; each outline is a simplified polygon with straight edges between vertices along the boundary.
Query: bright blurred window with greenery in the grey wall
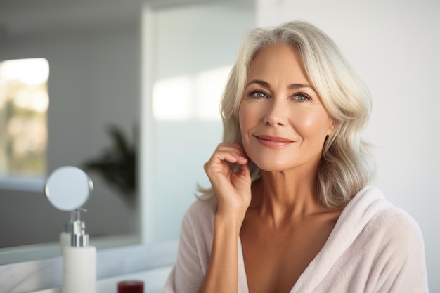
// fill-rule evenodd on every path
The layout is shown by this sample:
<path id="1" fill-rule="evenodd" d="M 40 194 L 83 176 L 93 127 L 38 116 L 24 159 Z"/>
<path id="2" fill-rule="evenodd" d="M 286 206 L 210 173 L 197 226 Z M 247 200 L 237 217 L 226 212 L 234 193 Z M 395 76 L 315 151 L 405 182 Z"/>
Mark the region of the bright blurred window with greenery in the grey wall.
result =
<path id="1" fill-rule="evenodd" d="M 46 175 L 48 76 L 44 58 L 0 62 L 0 177 Z"/>

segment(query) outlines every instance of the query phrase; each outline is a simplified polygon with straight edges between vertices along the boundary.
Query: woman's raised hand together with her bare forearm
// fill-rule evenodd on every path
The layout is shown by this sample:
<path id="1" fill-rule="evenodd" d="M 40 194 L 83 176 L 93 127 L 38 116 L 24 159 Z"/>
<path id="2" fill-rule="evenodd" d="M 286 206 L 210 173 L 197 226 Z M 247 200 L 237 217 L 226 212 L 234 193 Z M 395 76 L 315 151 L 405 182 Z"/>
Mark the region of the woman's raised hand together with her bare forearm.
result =
<path id="1" fill-rule="evenodd" d="M 251 200 L 250 169 L 245 150 L 221 143 L 205 171 L 217 200 L 214 237 L 205 278 L 199 293 L 233 293 L 238 289 L 238 239 Z M 231 163 L 238 170 L 231 169 Z"/>

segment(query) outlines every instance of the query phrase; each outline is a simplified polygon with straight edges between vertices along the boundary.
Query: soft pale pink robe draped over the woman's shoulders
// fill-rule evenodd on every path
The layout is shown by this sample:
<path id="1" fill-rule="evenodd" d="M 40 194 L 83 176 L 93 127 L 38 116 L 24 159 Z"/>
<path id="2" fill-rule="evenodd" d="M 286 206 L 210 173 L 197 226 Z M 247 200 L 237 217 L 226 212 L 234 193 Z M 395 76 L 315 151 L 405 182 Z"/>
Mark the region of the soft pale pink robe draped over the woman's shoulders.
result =
<path id="1" fill-rule="evenodd" d="M 183 218 L 176 264 L 166 293 L 198 292 L 212 246 L 214 213 L 197 201 Z M 238 243 L 238 292 L 249 292 Z M 418 224 L 382 192 L 366 186 L 347 204 L 323 249 L 290 293 L 428 292 L 425 251 Z"/>

